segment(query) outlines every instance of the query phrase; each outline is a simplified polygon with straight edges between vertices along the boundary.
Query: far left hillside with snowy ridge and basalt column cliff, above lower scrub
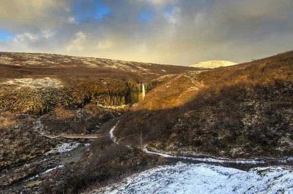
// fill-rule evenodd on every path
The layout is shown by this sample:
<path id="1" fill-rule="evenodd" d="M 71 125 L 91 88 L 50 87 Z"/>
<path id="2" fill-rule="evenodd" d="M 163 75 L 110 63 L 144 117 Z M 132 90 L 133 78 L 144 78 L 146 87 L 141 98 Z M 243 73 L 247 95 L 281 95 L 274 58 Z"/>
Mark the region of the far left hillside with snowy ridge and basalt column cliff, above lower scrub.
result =
<path id="1" fill-rule="evenodd" d="M 42 115 L 57 104 L 70 109 L 88 103 L 134 104 L 160 81 L 192 67 L 40 53 L 0 52 L 0 112 Z M 34 97 L 34 98 L 31 98 Z"/>

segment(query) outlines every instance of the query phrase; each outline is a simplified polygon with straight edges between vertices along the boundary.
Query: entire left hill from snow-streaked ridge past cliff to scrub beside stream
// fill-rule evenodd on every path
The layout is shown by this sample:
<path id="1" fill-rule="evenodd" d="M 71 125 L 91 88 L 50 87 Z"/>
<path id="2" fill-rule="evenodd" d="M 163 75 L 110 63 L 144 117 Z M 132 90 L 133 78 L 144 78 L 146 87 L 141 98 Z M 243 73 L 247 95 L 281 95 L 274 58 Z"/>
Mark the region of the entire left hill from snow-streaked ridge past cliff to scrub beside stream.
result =
<path id="1" fill-rule="evenodd" d="M 196 69 L 103 58 L 0 52 L 0 171 L 5 172 L 0 187 L 48 168 L 51 164 L 38 165 L 38 168 L 35 164 L 21 165 L 34 159 L 38 164 L 47 161 L 42 158 L 44 154 L 66 142 L 34 132 L 36 121 L 42 123 L 40 133 L 51 136 L 89 133 L 140 101 L 142 83 L 148 93 L 162 82 L 152 81 L 154 78 L 188 70 Z M 30 117 L 26 119 L 19 114 Z"/>

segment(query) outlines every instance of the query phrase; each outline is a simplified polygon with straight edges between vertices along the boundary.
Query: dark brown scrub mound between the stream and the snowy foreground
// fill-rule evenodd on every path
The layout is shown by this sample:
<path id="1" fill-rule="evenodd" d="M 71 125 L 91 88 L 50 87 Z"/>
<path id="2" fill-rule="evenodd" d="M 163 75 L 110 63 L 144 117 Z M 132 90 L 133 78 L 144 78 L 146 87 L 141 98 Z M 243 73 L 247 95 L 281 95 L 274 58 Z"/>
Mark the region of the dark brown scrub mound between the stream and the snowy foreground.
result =
<path id="1" fill-rule="evenodd" d="M 118 182 L 128 175 L 162 165 L 165 160 L 137 148 L 118 145 L 108 137 L 96 140 L 77 164 L 46 178 L 41 193 L 76 194 Z"/>

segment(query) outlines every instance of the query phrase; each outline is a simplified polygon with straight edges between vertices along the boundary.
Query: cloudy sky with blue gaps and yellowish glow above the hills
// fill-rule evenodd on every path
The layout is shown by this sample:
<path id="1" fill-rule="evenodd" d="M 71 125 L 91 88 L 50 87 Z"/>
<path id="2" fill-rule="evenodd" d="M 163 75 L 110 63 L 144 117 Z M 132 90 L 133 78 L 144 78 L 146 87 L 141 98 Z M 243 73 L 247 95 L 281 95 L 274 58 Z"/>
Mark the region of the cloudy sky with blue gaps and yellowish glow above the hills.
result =
<path id="1" fill-rule="evenodd" d="M 293 50 L 293 0 L 0 0 L 0 51 L 189 66 Z"/>

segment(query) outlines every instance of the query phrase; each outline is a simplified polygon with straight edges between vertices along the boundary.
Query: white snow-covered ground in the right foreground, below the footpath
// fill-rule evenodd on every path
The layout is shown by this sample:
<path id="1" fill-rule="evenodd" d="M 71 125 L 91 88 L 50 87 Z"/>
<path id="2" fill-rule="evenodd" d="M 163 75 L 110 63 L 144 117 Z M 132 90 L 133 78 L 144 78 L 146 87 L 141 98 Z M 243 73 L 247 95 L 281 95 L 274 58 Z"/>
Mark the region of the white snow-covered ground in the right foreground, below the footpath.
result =
<path id="1" fill-rule="evenodd" d="M 129 176 L 92 194 L 293 194 L 293 168 L 249 172 L 208 164 L 177 163 Z"/>

